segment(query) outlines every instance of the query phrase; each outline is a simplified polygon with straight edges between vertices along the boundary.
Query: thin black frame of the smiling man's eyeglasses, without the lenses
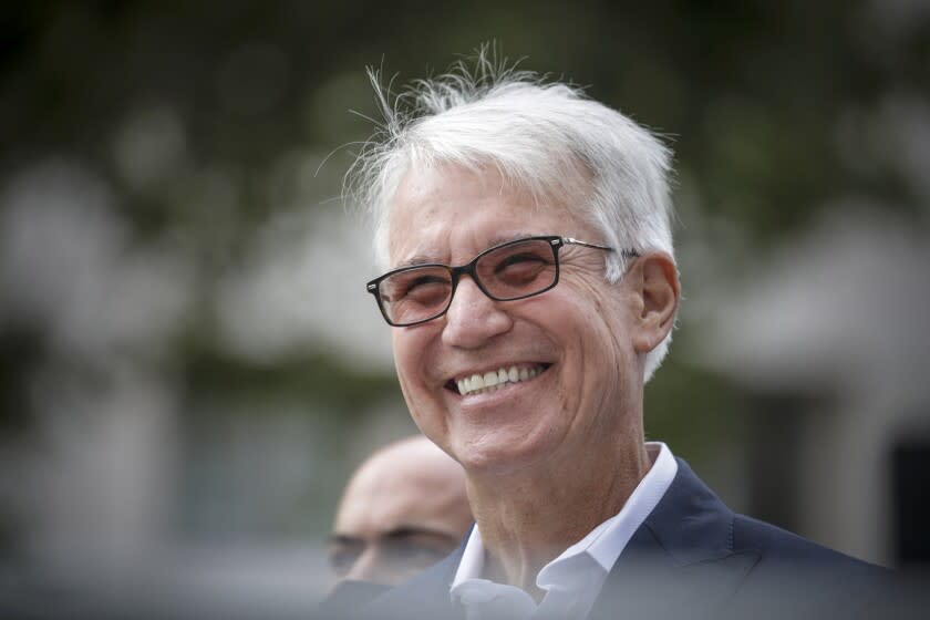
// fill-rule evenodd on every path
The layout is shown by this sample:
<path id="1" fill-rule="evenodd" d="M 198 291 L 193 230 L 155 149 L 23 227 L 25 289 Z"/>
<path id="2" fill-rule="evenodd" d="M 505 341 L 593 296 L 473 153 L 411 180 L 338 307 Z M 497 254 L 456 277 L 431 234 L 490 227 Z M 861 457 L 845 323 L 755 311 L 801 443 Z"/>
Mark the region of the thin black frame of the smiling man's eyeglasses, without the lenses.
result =
<path id="1" fill-rule="evenodd" d="M 552 249 L 552 264 L 556 267 L 556 275 L 555 275 L 555 278 L 552 278 L 552 283 L 542 288 L 542 289 L 540 289 L 540 290 L 538 290 L 538 291 L 533 291 L 530 293 L 520 294 L 520 296 L 517 296 L 517 297 L 503 297 L 502 298 L 502 297 L 496 297 L 496 296 L 492 294 L 485 288 L 484 283 L 482 282 L 480 278 L 478 278 L 477 272 L 475 271 L 475 267 L 477 266 L 478 261 L 484 256 L 486 256 L 486 255 L 488 255 L 493 251 L 497 251 L 500 248 L 506 248 L 508 246 L 514 246 L 514 245 L 517 245 L 517 244 L 524 244 L 526 241 L 547 241 L 549 244 L 549 247 Z M 517 301 L 518 299 L 527 299 L 529 297 L 536 297 L 537 294 L 542 294 L 544 292 L 554 289 L 556 287 L 556 285 L 559 283 L 559 272 L 560 272 L 560 269 L 559 269 L 559 248 L 561 248 L 564 246 L 583 246 L 586 248 L 593 248 L 593 249 L 603 250 L 603 251 L 610 251 L 610 252 L 617 251 L 613 248 L 608 247 L 608 246 L 601 246 L 601 245 L 598 245 L 598 244 L 589 244 L 587 241 L 580 241 L 580 240 L 574 239 L 571 237 L 559 237 L 557 235 L 542 235 L 542 236 L 536 236 L 536 237 L 524 237 L 523 239 L 514 239 L 513 241 L 507 241 L 507 242 L 499 244 L 497 246 L 487 248 L 486 250 L 482 251 L 478 256 L 473 258 L 468 264 L 462 265 L 459 267 L 451 267 L 448 265 L 443 265 L 442 262 L 424 262 L 422 265 L 409 265 L 406 267 L 400 267 L 397 269 L 393 269 L 391 271 L 388 271 L 386 273 L 375 278 L 374 280 L 371 280 L 370 282 L 368 282 L 365 285 L 365 289 L 368 290 L 368 292 L 370 292 L 371 294 L 374 296 L 374 299 L 378 302 L 378 309 L 381 311 L 381 316 L 384 317 L 384 320 L 388 321 L 389 326 L 395 327 L 395 328 L 409 328 L 409 327 L 418 326 L 418 324 L 432 321 L 433 319 L 438 319 L 440 317 L 445 314 L 448 311 L 450 307 L 452 306 L 452 300 L 455 297 L 455 290 L 458 288 L 458 279 L 462 277 L 463 273 L 468 275 L 472 278 L 472 281 L 475 282 L 475 285 L 478 287 L 478 289 L 480 289 L 480 291 L 483 293 L 485 293 L 488 298 L 490 298 L 495 301 Z M 636 257 L 639 256 L 639 252 L 637 252 L 636 250 L 621 250 L 620 254 L 623 258 L 636 258 Z M 450 294 L 448 294 L 448 301 L 446 302 L 445 307 L 442 310 L 440 310 L 438 312 L 436 312 L 432 317 L 427 317 L 425 319 L 420 319 L 418 321 L 413 321 L 413 322 L 410 322 L 410 323 L 395 323 L 394 321 L 391 320 L 391 318 L 388 316 L 388 312 L 384 310 L 384 301 L 381 297 L 381 288 L 380 288 L 379 285 L 381 285 L 382 281 L 386 280 L 388 278 L 390 278 L 391 276 L 394 276 L 396 273 L 402 273 L 404 271 L 412 271 L 414 269 L 423 269 L 424 267 L 441 267 L 441 268 L 445 269 L 446 271 L 448 271 L 450 280 L 452 281 L 452 290 L 450 291 Z"/>

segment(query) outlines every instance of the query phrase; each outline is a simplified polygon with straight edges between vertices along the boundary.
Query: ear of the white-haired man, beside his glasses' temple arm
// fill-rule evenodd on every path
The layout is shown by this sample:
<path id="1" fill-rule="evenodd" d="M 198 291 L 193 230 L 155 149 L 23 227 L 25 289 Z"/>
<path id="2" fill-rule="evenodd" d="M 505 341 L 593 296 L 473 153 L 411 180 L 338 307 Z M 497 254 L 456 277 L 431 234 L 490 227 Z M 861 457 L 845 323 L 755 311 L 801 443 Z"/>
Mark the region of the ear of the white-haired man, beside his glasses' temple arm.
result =
<path id="1" fill-rule="evenodd" d="M 637 259 L 627 277 L 637 299 L 633 348 L 638 353 L 648 353 L 674 327 L 681 298 L 678 268 L 669 255 L 651 252 Z"/>

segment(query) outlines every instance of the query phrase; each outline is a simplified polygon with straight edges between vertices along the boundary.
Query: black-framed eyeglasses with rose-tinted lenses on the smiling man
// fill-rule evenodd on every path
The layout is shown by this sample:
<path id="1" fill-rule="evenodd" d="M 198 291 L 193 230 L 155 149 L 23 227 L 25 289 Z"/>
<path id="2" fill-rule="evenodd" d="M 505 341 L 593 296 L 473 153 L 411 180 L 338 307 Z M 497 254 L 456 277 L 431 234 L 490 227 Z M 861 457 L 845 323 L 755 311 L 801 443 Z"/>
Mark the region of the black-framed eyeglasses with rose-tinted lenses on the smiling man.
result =
<path id="1" fill-rule="evenodd" d="M 495 301 L 514 301 L 540 294 L 559 281 L 559 248 L 585 246 L 604 251 L 613 248 L 570 237 L 527 237 L 488 248 L 461 267 L 441 264 L 401 267 L 366 285 L 384 320 L 395 328 L 416 326 L 442 317 L 463 273 Z M 624 258 L 638 256 L 623 250 Z"/>

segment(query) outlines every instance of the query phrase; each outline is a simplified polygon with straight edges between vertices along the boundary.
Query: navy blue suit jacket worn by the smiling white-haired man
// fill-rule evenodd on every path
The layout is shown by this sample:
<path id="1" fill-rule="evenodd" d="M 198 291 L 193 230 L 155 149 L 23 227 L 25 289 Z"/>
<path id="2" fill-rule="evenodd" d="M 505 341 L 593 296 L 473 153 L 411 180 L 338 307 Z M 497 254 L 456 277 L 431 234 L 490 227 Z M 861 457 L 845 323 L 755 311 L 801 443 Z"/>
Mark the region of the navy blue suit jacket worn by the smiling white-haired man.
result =
<path id="1" fill-rule="evenodd" d="M 869 617 L 887 571 L 733 513 L 679 458 L 671 486 L 633 534 L 590 612 L 609 618 Z M 466 537 L 467 540 L 467 537 Z M 362 618 L 464 618 L 450 586 L 464 542 L 375 598 Z"/>

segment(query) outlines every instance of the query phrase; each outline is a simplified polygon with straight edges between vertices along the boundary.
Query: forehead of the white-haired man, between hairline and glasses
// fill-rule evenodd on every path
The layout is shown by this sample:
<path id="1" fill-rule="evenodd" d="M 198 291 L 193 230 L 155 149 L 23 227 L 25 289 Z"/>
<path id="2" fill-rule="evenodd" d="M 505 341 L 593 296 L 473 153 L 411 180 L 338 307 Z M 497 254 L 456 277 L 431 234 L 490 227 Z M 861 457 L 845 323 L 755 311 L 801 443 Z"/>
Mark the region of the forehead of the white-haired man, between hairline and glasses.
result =
<path id="1" fill-rule="evenodd" d="M 535 196 L 505 182 L 493 167 L 435 166 L 401 179 L 391 203 L 389 252 L 392 266 L 463 261 L 517 237 L 585 230 L 590 228 L 564 199 Z"/>

